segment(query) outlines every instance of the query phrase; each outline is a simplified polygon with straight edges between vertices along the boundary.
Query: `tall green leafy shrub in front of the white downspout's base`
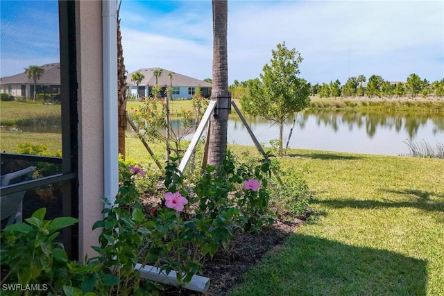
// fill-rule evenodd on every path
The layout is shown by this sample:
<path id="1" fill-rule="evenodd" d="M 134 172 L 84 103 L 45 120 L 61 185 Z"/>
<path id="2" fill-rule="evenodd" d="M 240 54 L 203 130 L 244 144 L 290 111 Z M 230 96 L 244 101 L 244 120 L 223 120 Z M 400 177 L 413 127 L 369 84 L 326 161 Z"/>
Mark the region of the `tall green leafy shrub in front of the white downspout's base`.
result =
<path id="1" fill-rule="evenodd" d="M 102 199 L 106 205 L 104 218 L 93 226 L 93 229 L 101 228 L 102 233 L 100 245 L 92 247 L 99 256 L 90 262 L 102 266 L 101 272 L 108 282 L 106 295 L 146 295 L 148 292 L 139 270 L 135 270 L 137 263 L 146 264 L 140 253 L 151 232 L 135 185 L 135 180 L 143 175 L 144 171 L 136 166 L 128 166 L 122 172 L 117 199 L 113 204 Z"/>

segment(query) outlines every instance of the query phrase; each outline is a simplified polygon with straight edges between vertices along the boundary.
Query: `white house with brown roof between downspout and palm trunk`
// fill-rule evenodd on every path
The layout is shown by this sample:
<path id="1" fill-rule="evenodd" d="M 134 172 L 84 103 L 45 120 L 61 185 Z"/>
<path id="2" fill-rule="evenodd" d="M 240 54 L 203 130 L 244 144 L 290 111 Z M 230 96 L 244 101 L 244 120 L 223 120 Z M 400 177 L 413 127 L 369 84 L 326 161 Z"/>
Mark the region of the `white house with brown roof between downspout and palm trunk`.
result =
<path id="1" fill-rule="evenodd" d="M 126 78 L 128 84 L 127 91 L 133 96 L 151 96 L 151 89 L 156 85 L 156 77 L 154 71 L 162 68 L 142 68 L 132 73 L 129 73 Z M 144 79 L 139 83 L 131 80 L 134 73 L 140 72 L 144 75 Z M 171 73 L 171 78 L 169 77 Z M 203 80 L 192 78 L 174 71 L 162 69 L 162 74 L 157 77 L 157 84 L 162 86 L 162 96 L 164 96 L 165 89 L 172 87 L 173 98 L 191 98 L 196 92 L 196 87 L 200 85 L 202 96 L 209 98 L 211 95 L 212 84 Z M 138 94 L 138 95 L 137 95 Z"/>

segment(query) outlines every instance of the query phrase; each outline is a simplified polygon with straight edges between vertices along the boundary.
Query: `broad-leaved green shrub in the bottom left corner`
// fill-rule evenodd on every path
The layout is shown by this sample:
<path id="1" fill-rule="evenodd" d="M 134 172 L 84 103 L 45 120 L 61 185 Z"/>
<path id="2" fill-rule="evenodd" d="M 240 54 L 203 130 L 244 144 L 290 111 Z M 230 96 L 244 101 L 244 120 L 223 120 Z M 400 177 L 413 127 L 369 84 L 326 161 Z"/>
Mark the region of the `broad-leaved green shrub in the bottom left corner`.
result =
<path id="1" fill-rule="evenodd" d="M 42 208 L 24 223 L 12 224 L 1 232 L 2 265 L 8 273 L 1 284 L 42 284 L 40 295 L 60 295 L 63 285 L 71 283 L 67 268 L 68 256 L 63 246 L 54 240 L 59 230 L 74 225 L 77 219 L 59 217 L 44 220 Z M 12 291 L 22 295 L 22 291 Z"/>

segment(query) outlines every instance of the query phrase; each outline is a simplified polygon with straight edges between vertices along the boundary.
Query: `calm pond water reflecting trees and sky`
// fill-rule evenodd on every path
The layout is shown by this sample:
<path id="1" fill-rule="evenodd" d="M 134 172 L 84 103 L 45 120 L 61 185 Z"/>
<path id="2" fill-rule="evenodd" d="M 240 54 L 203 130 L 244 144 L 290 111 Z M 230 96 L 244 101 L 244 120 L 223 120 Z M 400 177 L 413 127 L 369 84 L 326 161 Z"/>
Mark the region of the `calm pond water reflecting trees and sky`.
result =
<path id="1" fill-rule="evenodd" d="M 271 121 L 248 115 L 244 117 L 259 143 L 270 147 L 270 141 L 279 139 L 277 123 L 273 124 Z M 285 123 L 284 147 L 289 139 L 293 119 L 296 121 L 289 148 L 403 155 L 409 153 L 405 140 L 425 141 L 431 146 L 444 143 L 443 114 L 305 110 L 289 118 Z M 177 127 L 180 122 L 173 121 L 173 125 Z M 16 128 L 6 129 L 9 132 Z M 19 127 L 17 130 L 20 132 L 61 132 L 60 126 L 57 125 Z M 187 139 L 191 137 L 192 134 L 187 136 Z M 228 143 L 254 145 L 234 110 L 228 121 Z"/>

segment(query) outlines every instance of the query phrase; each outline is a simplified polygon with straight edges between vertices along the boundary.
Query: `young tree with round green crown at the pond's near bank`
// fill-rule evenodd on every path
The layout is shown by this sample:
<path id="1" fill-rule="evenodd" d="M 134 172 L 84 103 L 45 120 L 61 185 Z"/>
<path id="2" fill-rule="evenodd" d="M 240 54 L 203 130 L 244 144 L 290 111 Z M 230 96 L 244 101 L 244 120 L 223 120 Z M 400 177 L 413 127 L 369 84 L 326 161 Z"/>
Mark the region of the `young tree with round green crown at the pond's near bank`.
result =
<path id="1" fill-rule="evenodd" d="M 287 49 L 285 42 L 271 51 L 259 78 L 248 81 L 247 95 L 241 98 L 248 114 L 279 123 L 279 155 L 282 155 L 282 132 L 289 115 L 304 110 L 310 103 L 310 86 L 299 78 L 302 57 L 296 49 Z"/>

